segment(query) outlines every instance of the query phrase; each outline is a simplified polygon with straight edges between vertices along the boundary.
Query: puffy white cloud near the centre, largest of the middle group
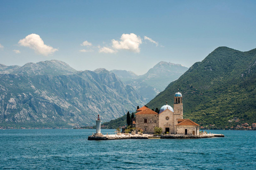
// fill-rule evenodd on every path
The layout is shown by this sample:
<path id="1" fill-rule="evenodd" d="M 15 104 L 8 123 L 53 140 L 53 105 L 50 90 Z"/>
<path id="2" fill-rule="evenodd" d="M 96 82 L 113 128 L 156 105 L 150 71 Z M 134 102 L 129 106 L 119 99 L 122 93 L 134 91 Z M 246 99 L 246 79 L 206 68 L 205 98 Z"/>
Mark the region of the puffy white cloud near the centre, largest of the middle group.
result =
<path id="1" fill-rule="evenodd" d="M 117 41 L 115 39 L 112 40 L 112 47 L 115 49 L 126 49 L 130 50 L 135 53 L 140 52 L 140 44 L 142 40 L 139 36 L 135 35 L 134 33 L 125 34 L 120 38 L 121 41 Z"/>

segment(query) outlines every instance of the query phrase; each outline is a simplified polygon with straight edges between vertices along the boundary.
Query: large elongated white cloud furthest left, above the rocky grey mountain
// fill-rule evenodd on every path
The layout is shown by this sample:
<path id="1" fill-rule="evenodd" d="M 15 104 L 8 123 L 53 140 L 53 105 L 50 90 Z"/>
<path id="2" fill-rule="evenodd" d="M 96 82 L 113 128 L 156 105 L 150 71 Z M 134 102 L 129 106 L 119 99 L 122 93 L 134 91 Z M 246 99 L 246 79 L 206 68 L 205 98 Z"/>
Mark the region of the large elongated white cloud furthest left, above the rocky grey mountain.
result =
<path id="1" fill-rule="evenodd" d="M 21 46 L 34 49 L 37 54 L 42 54 L 44 56 L 48 56 L 58 51 L 56 48 L 45 45 L 42 38 L 40 38 L 40 36 L 35 33 L 32 33 L 26 38 L 19 40 L 19 44 Z"/>

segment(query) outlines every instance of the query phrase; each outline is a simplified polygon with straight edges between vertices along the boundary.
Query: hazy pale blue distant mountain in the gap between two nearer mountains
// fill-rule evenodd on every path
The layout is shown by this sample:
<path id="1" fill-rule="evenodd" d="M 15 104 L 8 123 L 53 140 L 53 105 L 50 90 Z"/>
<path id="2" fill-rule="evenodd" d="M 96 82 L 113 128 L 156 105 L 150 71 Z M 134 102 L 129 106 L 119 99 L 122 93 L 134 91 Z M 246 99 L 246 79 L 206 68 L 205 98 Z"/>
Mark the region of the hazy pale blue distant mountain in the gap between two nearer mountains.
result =
<path id="1" fill-rule="evenodd" d="M 110 72 L 117 74 L 122 81 L 138 90 L 148 102 L 187 70 L 187 67 L 180 64 L 159 62 L 143 75 L 136 75 L 125 70 L 113 70 Z"/>

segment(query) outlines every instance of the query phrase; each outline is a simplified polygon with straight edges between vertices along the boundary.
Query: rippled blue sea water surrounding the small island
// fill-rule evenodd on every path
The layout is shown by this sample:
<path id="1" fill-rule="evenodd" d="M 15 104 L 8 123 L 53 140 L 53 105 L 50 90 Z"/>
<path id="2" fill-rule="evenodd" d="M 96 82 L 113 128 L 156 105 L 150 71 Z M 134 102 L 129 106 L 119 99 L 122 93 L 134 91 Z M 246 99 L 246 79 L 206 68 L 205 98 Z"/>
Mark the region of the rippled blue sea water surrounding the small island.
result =
<path id="1" fill-rule="evenodd" d="M 89 141 L 92 132 L 0 130 L 0 169 L 256 169 L 256 131 L 207 131 L 225 138 Z"/>

